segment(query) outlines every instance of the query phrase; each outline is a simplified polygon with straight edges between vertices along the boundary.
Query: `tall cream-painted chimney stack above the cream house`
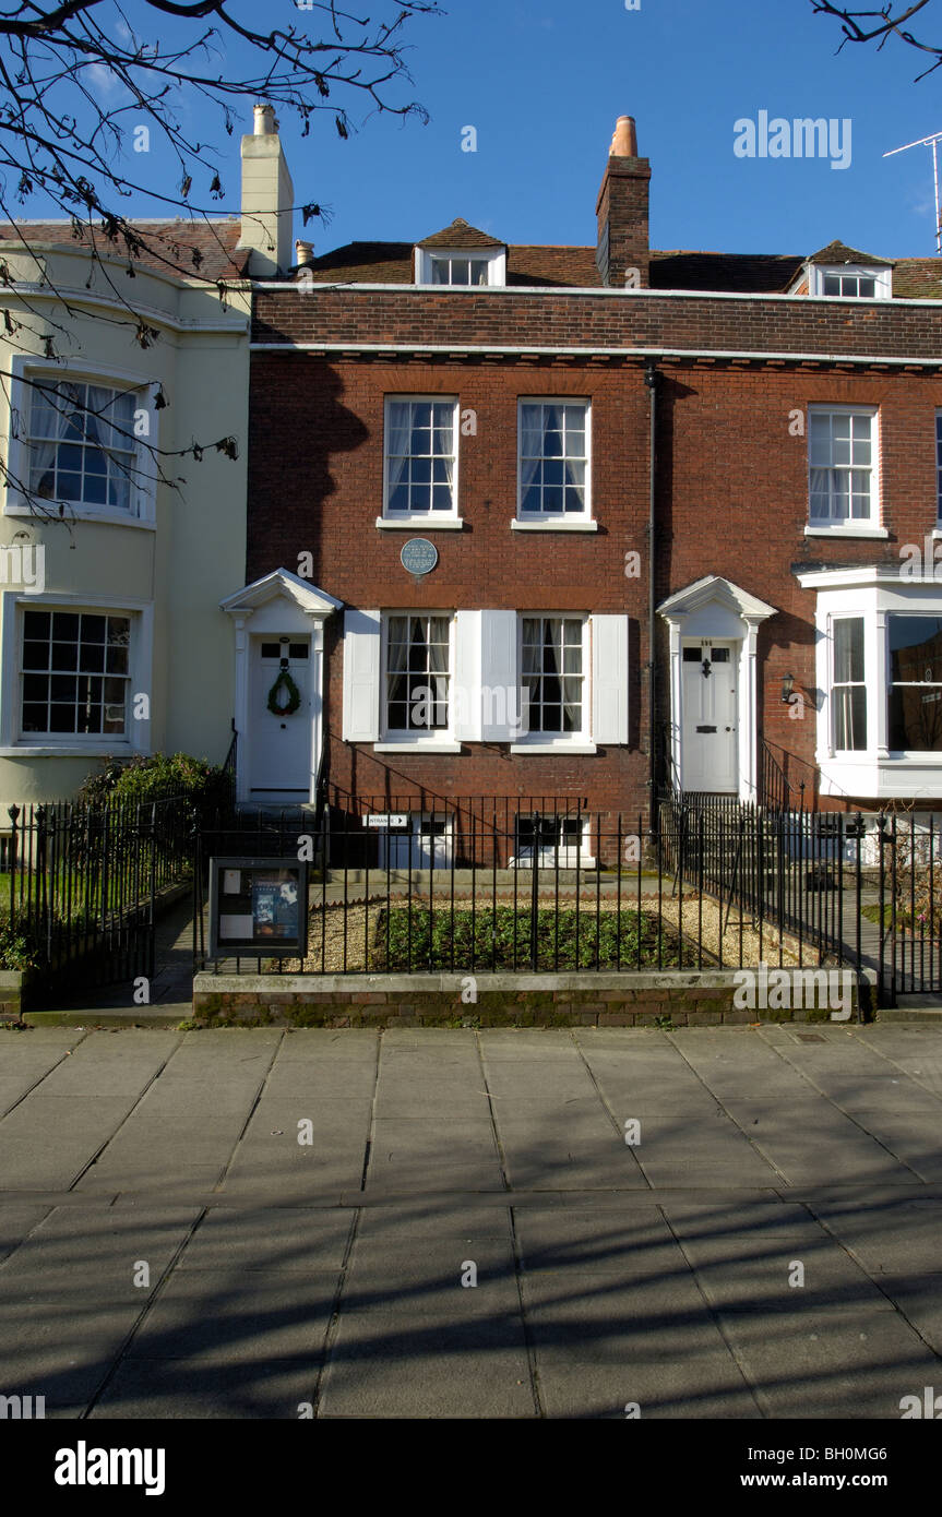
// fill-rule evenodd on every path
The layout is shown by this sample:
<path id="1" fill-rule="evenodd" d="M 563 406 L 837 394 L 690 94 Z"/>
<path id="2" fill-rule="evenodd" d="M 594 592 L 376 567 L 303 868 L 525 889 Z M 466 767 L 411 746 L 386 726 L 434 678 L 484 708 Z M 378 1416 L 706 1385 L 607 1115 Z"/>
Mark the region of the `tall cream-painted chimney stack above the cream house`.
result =
<path id="1" fill-rule="evenodd" d="M 243 225 L 240 247 L 252 250 L 249 273 L 268 276 L 291 267 L 294 185 L 288 173 L 275 106 L 261 102 L 253 132 L 243 137 Z"/>

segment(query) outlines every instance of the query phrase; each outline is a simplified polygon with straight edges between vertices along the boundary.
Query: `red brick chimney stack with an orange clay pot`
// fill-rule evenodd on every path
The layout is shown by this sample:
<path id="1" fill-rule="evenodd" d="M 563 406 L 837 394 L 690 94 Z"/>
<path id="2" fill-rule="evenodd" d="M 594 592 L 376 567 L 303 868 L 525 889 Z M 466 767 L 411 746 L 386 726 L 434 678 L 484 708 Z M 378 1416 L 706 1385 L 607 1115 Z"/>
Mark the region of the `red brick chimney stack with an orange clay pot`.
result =
<path id="1" fill-rule="evenodd" d="M 623 290 L 625 281 L 648 288 L 648 194 L 651 164 L 637 156 L 634 117 L 619 115 L 596 205 L 596 264 L 602 284 Z M 631 270 L 637 269 L 637 276 Z"/>

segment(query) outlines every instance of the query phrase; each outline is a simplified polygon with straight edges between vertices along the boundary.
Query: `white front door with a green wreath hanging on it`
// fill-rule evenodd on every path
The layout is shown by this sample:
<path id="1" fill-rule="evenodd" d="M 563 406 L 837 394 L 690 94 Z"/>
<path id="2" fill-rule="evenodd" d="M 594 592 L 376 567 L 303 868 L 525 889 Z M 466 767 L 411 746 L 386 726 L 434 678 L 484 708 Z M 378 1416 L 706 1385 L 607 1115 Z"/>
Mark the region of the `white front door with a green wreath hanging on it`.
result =
<path id="1" fill-rule="evenodd" d="M 296 711 L 272 711 L 268 696 L 282 669 L 300 704 Z M 275 704 L 285 705 L 285 684 Z M 300 806 L 311 798 L 311 639 L 261 636 L 252 639 L 252 693 L 249 701 L 249 799 Z M 240 739 L 241 740 L 241 739 Z"/>

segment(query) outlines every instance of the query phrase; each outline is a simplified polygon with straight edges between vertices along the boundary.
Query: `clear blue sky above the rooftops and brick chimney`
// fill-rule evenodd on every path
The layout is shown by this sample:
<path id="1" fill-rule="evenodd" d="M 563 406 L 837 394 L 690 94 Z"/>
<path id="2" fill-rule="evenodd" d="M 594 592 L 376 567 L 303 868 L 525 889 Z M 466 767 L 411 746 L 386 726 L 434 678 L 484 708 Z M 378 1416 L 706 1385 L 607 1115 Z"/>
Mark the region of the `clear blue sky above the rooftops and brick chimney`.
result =
<path id="1" fill-rule="evenodd" d="M 143 24 L 135 5 L 127 14 Z M 270 0 L 267 23 L 281 9 L 284 24 L 288 12 L 294 24 L 319 24 L 319 12 L 290 0 Z M 924 26 L 933 29 L 942 42 L 936 5 Z M 640 11 L 625 0 L 451 0 L 446 15 L 411 21 L 407 36 L 408 93 L 429 111 L 428 126 L 366 118 L 349 100 L 360 126 L 349 141 L 329 115 L 302 140 L 281 112 L 297 200 L 332 208 L 326 229 L 296 228 L 319 253 L 356 238 L 417 240 L 457 215 L 510 243 L 593 243 L 619 114 L 636 117 L 651 159 L 655 247 L 809 253 L 840 237 L 884 256 L 934 250 L 931 153 L 881 155 L 942 130 L 942 70 L 916 83 L 921 56 L 896 39 L 836 56 L 837 23 L 813 15 L 809 0 L 640 0 Z M 185 109 L 218 152 L 223 208 L 235 211 L 238 140 L 205 108 Z M 763 109 L 849 118 L 849 167 L 737 158 L 736 120 Z M 475 153 L 461 150 L 466 126 L 476 129 Z M 161 188 L 179 177 L 159 152 L 147 173 Z"/>

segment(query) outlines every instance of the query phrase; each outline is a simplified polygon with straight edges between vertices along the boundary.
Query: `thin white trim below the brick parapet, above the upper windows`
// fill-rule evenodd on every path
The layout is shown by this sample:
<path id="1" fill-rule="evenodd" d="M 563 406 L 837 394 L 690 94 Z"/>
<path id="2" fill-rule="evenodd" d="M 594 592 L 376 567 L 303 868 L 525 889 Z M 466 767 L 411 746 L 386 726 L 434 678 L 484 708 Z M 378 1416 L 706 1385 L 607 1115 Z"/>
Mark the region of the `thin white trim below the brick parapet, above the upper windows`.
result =
<path id="1" fill-rule="evenodd" d="M 384 285 L 384 288 L 387 288 Z M 443 285 L 435 285 L 441 290 Z M 842 302 L 846 305 L 846 300 Z M 942 303 L 942 302 L 937 302 Z M 508 353 L 520 358 L 748 358 L 792 364 L 898 364 L 942 369 L 942 358 L 896 358 L 887 353 L 778 353 L 721 347 L 522 347 L 516 343 L 249 343 L 253 353 Z"/>

